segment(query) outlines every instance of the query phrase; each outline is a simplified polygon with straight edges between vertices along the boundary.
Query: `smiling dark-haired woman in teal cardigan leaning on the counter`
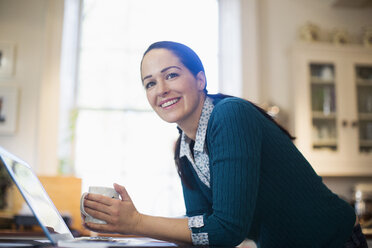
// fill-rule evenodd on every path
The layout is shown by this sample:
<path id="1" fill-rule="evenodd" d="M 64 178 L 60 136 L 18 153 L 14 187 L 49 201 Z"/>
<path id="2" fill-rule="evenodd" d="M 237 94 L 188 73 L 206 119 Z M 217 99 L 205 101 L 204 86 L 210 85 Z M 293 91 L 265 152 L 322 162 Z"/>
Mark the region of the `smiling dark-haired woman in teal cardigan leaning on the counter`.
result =
<path id="1" fill-rule="evenodd" d="M 188 54 L 195 52 L 160 41 L 141 63 L 150 105 L 180 133 L 174 159 L 186 216 L 143 214 L 114 184 L 121 199 L 84 198 L 84 211 L 106 222 L 85 219 L 85 226 L 194 245 L 232 247 L 249 238 L 262 248 L 367 247 L 353 208 L 323 184 L 289 132 L 247 100 L 206 94 L 204 70 L 184 64 Z"/>

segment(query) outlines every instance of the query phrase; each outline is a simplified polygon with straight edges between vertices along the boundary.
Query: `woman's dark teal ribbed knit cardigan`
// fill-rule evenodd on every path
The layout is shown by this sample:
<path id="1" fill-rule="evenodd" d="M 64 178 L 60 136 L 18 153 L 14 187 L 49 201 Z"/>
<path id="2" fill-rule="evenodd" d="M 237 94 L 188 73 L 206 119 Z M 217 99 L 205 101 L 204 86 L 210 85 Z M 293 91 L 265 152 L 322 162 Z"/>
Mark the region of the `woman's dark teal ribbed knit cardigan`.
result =
<path id="1" fill-rule="evenodd" d="M 193 189 L 183 186 L 187 216 L 203 215 L 210 245 L 342 247 L 353 208 L 332 193 L 290 138 L 251 103 L 214 101 L 206 144 L 210 185 L 183 158 Z"/>

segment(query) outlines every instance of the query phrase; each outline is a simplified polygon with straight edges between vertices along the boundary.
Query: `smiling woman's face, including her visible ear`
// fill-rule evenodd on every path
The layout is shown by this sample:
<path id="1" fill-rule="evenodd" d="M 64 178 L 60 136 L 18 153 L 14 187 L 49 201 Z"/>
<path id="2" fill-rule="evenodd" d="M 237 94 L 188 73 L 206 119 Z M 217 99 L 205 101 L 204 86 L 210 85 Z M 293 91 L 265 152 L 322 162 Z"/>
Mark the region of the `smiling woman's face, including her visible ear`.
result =
<path id="1" fill-rule="evenodd" d="M 163 120 L 196 125 L 204 103 L 205 76 L 194 75 L 167 49 L 153 49 L 142 60 L 147 100 Z"/>

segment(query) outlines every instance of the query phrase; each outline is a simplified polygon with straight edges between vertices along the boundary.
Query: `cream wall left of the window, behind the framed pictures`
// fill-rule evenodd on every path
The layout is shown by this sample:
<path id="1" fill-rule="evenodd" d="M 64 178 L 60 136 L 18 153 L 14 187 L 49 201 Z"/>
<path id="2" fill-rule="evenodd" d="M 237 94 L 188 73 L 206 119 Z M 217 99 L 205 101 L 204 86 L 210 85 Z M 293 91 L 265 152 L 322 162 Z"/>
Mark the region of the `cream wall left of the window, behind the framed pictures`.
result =
<path id="1" fill-rule="evenodd" d="M 17 131 L 0 136 L 0 146 L 40 174 L 55 174 L 58 166 L 62 17 L 62 0 L 0 0 L 0 40 L 16 46 L 14 75 L 0 84 L 16 85 L 20 92 Z"/>

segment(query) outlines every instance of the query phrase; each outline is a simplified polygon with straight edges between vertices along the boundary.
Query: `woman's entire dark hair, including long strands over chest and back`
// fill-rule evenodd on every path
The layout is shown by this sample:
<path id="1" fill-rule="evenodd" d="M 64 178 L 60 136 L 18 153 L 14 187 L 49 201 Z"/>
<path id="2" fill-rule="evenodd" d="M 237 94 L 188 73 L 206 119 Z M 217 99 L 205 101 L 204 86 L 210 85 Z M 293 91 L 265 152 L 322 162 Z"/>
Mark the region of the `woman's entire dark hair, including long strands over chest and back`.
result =
<path id="1" fill-rule="evenodd" d="M 153 49 L 161 49 L 161 48 L 167 49 L 167 50 L 173 52 L 173 54 L 176 55 L 179 58 L 181 63 L 188 70 L 190 70 L 190 72 L 194 75 L 194 77 L 196 77 L 196 75 L 201 71 L 205 73 L 203 63 L 201 62 L 199 56 L 188 46 L 183 45 L 181 43 L 173 42 L 173 41 L 159 41 L 159 42 L 155 42 L 155 43 L 151 44 L 143 54 L 143 57 L 142 57 L 142 60 L 141 60 L 141 65 L 142 65 L 143 58 L 145 57 L 145 55 L 149 51 L 151 51 Z M 142 68 L 141 68 L 141 70 L 142 70 Z M 205 84 L 204 92 L 207 95 L 208 91 L 206 89 L 206 86 L 207 86 L 207 84 Z M 212 99 L 217 99 L 217 98 L 222 99 L 222 98 L 232 97 L 232 96 L 223 95 L 223 94 L 208 95 L 208 96 L 211 97 Z M 250 102 L 250 103 L 252 103 L 252 102 Z M 285 134 L 288 135 L 288 137 L 290 139 L 292 139 L 292 140 L 295 139 L 295 137 L 291 136 L 290 133 L 285 128 L 283 128 L 281 125 L 279 125 L 269 114 L 267 114 L 265 110 L 258 107 L 254 103 L 252 103 L 252 104 L 266 118 L 268 118 L 269 120 L 274 122 Z M 188 188 L 192 189 L 193 185 L 190 184 L 190 181 L 188 180 L 188 178 L 185 175 L 186 174 L 185 165 L 186 165 L 187 162 L 185 161 L 185 158 L 180 158 L 180 145 L 181 145 L 182 130 L 179 129 L 179 132 L 180 132 L 180 135 L 179 135 L 179 137 L 176 141 L 175 147 L 174 147 L 174 161 L 175 161 L 175 164 L 176 164 L 176 167 L 177 167 L 178 175 L 180 176 L 182 182 Z"/>

